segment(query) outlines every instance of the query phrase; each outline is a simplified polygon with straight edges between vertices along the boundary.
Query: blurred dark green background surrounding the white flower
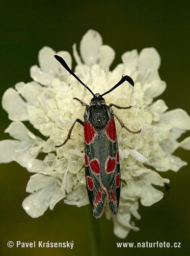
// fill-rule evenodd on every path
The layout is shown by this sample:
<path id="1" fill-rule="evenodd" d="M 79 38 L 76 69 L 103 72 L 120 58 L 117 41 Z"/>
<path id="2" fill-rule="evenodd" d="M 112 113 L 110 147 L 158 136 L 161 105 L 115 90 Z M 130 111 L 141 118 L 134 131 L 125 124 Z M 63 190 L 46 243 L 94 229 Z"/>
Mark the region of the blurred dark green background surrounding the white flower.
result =
<path id="1" fill-rule="evenodd" d="M 155 47 L 161 56 L 159 74 L 167 82 L 160 98 L 169 110 L 189 113 L 188 1 L 3 1 L 1 3 L 1 96 L 18 81 L 31 81 L 29 69 L 38 51 L 49 46 L 72 53 L 88 29 L 116 51 L 113 69 L 125 51 Z M 8 126 L 1 109 L 1 139 Z M 185 136 L 183 136 L 184 138 Z M 189 152 L 177 150 L 183 160 Z M 113 223 L 96 221 L 101 255 L 187 255 L 189 252 L 189 167 L 162 173 L 171 180 L 168 197 L 151 207 L 140 206 L 141 228 L 125 240 L 113 234 Z M 90 205 L 77 208 L 60 202 L 53 211 L 32 219 L 21 207 L 30 173 L 17 163 L 1 165 L 1 255 L 90 255 Z M 73 249 L 13 248 L 7 242 L 74 241 Z M 181 248 L 117 248 L 116 242 L 180 242 Z"/>

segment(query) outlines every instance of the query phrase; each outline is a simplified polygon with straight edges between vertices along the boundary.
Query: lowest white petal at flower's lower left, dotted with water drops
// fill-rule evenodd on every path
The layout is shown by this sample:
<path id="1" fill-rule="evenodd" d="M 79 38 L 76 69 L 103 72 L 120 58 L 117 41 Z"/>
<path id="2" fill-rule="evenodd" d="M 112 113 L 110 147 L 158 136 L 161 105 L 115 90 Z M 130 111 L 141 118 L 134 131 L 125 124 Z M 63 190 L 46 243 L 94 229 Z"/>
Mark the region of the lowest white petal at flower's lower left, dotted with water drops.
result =
<path id="1" fill-rule="evenodd" d="M 26 197 L 22 207 L 32 218 L 38 218 L 47 210 L 52 193 L 55 193 L 55 181 Z"/>

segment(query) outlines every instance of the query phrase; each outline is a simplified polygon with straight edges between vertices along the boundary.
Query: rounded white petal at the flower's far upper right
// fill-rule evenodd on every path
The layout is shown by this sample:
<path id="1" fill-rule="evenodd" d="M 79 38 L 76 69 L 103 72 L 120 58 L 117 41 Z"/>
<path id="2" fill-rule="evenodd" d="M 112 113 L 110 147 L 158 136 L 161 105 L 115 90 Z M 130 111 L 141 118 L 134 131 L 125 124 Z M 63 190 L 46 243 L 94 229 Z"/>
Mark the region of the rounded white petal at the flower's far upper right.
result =
<path id="1" fill-rule="evenodd" d="M 160 56 L 155 48 L 144 48 L 139 54 L 138 72 L 144 77 L 149 70 L 158 70 L 160 66 Z"/>

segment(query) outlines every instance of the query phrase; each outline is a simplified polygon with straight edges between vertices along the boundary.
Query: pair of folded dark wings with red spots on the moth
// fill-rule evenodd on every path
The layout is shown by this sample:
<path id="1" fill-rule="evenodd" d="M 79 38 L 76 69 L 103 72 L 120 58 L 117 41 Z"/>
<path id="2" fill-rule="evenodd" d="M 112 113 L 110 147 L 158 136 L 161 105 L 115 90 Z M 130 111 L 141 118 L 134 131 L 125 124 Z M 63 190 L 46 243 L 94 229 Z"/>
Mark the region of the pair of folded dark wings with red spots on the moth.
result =
<path id="1" fill-rule="evenodd" d="M 88 121 L 84 122 L 85 133 L 85 165 L 89 201 L 93 215 L 101 217 L 105 199 L 111 214 L 118 211 L 120 196 L 120 166 L 113 118 L 103 129 L 95 129 Z"/>

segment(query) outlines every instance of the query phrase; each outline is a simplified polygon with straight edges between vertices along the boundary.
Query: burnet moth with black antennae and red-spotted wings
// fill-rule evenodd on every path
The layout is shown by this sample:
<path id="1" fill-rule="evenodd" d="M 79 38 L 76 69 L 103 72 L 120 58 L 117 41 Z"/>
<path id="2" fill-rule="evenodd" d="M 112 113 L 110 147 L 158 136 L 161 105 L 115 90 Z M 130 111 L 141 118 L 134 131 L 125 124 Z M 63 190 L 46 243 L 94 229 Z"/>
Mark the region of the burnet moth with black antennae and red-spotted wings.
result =
<path id="1" fill-rule="evenodd" d="M 68 132 L 67 139 L 59 146 L 63 146 L 70 139 L 76 122 L 84 126 L 86 182 L 93 215 L 95 218 L 101 217 L 107 198 L 111 215 L 116 216 L 120 198 L 121 175 L 114 116 L 129 133 L 136 134 L 140 133 L 141 130 L 137 132 L 129 130 L 112 110 L 112 106 L 118 109 L 129 109 L 131 106 L 120 107 L 113 103 L 106 105 L 102 96 L 112 92 L 124 81 L 128 81 L 131 86 L 134 86 L 134 82 L 130 76 L 123 75 L 121 80 L 112 89 L 102 95 L 99 93 L 94 94 L 87 84 L 82 82 L 72 72 L 62 57 L 55 55 L 55 58 L 93 95 L 90 105 L 78 98 L 73 98 L 78 100 L 83 106 L 86 106 L 84 121 L 76 119 Z"/>

